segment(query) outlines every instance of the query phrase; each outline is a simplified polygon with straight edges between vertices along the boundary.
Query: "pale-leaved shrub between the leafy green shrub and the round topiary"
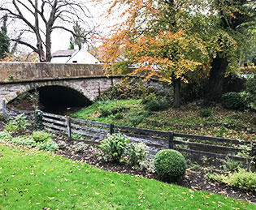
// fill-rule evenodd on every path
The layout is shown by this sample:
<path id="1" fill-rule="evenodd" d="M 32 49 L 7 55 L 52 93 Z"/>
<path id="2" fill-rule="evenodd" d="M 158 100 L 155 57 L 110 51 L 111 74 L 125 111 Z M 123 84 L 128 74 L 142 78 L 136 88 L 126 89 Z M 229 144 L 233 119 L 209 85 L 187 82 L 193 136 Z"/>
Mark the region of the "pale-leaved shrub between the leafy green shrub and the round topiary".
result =
<path id="1" fill-rule="evenodd" d="M 128 163 L 134 168 L 141 168 L 142 163 L 146 160 L 147 151 L 145 143 L 132 143 L 128 151 Z"/>

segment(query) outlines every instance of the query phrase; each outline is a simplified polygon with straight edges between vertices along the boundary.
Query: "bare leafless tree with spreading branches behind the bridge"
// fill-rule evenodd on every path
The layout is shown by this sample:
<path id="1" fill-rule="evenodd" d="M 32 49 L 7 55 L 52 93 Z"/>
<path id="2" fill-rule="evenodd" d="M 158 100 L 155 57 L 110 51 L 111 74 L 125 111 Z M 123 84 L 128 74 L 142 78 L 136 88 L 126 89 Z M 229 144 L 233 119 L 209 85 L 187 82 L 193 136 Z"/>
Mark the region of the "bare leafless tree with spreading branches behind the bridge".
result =
<path id="1" fill-rule="evenodd" d="M 39 55 L 40 62 L 50 62 L 51 33 L 54 29 L 60 28 L 77 36 L 67 26 L 76 21 L 84 22 L 85 17 L 90 17 L 85 2 L 79 0 L 6 0 L 0 5 L 0 11 L 5 11 L 11 18 L 20 19 L 26 26 L 23 31 L 35 36 L 36 45 L 19 36 L 11 41 L 33 49 Z M 95 30 L 91 27 L 88 29 L 83 37 L 89 36 Z"/>

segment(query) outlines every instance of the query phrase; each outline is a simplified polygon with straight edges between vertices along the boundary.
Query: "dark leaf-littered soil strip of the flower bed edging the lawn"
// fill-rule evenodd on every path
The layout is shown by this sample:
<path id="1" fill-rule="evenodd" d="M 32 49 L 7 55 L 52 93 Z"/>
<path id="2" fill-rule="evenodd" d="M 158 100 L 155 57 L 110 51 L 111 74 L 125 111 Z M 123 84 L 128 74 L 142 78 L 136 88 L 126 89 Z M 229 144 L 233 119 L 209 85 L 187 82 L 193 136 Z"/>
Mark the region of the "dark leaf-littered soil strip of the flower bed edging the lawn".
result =
<path id="1" fill-rule="evenodd" d="M 67 143 L 67 142 L 66 142 Z M 146 172 L 145 170 L 132 169 L 131 166 L 121 163 L 112 163 L 102 160 L 98 160 L 99 149 L 96 146 L 88 145 L 83 152 L 75 152 L 74 145 L 67 143 L 65 148 L 59 149 L 55 152 L 60 156 L 65 156 L 69 159 L 81 161 L 88 163 L 89 165 L 94 165 L 99 169 L 104 169 L 111 172 L 118 172 L 119 174 L 132 174 L 144 178 L 152 178 L 161 182 L 169 182 L 161 180 L 157 174 Z M 255 191 L 244 191 L 237 187 L 232 187 L 225 185 L 220 182 L 209 181 L 205 178 L 206 171 L 204 170 L 187 170 L 183 178 L 176 180 L 175 183 L 179 186 L 188 187 L 194 191 L 208 191 L 210 193 L 216 193 L 219 195 L 225 195 L 227 197 L 232 197 L 235 199 L 244 199 L 246 201 L 256 204 L 256 194 Z"/>

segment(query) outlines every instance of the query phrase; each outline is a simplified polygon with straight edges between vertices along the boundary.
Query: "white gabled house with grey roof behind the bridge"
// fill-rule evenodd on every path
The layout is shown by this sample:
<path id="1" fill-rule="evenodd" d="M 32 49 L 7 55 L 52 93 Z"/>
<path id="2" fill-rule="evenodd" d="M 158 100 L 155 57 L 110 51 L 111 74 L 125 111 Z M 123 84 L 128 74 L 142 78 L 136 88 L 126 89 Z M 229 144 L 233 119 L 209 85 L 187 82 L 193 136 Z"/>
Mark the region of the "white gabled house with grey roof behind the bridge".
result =
<path id="1" fill-rule="evenodd" d="M 84 47 L 79 49 L 58 50 L 52 54 L 50 62 L 59 63 L 100 63 L 97 58 L 90 54 Z"/>

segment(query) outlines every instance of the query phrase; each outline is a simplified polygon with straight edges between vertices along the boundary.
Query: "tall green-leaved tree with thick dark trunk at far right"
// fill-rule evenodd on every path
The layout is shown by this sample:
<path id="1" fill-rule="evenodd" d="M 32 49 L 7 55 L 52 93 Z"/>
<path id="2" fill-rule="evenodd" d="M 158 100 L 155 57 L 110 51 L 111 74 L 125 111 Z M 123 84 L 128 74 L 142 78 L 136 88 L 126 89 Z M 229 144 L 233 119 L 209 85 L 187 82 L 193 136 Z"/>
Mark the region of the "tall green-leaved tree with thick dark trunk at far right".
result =
<path id="1" fill-rule="evenodd" d="M 252 25 L 255 28 L 256 8 L 249 0 L 213 0 L 210 8 L 215 11 L 208 19 L 211 23 L 209 32 L 214 34 L 210 35 L 213 48 L 210 98 L 219 100 L 228 67 L 232 70 L 232 66 L 237 66 L 239 58 L 252 45 L 248 29 Z"/>

